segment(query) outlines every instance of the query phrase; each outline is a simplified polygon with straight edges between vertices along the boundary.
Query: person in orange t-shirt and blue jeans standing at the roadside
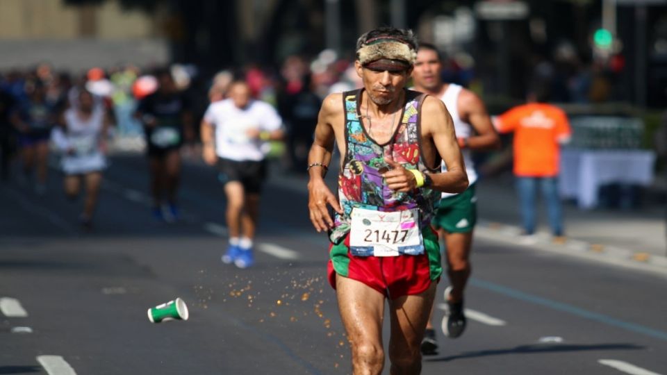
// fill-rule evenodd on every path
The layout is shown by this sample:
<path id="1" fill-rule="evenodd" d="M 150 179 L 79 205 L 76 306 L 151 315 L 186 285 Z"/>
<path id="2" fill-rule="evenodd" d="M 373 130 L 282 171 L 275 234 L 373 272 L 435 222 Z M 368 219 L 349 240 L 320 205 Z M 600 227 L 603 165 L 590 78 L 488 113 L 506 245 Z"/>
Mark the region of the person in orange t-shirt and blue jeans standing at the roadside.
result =
<path id="1" fill-rule="evenodd" d="M 525 242 L 534 242 L 536 194 L 541 187 L 555 241 L 563 240 L 563 214 L 558 195 L 560 146 L 570 140 L 568 117 L 547 104 L 547 88 L 536 88 L 528 103 L 497 117 L 500 133 L 514 132 L 514 175 L 518 190 Z"/>

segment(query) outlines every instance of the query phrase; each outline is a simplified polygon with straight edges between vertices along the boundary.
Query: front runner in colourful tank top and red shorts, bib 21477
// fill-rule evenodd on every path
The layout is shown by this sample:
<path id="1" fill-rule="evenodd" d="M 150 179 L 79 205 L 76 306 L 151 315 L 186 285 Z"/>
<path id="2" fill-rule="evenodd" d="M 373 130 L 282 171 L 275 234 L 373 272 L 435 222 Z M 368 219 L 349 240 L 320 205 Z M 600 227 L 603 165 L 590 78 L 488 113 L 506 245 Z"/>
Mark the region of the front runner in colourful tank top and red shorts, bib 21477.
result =
<path id="1" fill-rule="evenodd" d="M 352 345 L 354 374 L 384 367 L 382 322 L 389 301 L 391 374 L 419 374 L 420 342 L 442 268 L 431 229 L 440 192 L 468 179 L 444 104 L 405 90 L 417 42 L 411 31 L 361 35 L 354 66 L 363 88 L 330 94 L 308 156 L 308 208 L 331 240 L 329 282 Z M 342 158 L 338 198 L 322 176 L 334 141 Z M 440 171 L 440 159 L 449 166 Z M 328 212 L 336 210 L 335 221 Z"/>

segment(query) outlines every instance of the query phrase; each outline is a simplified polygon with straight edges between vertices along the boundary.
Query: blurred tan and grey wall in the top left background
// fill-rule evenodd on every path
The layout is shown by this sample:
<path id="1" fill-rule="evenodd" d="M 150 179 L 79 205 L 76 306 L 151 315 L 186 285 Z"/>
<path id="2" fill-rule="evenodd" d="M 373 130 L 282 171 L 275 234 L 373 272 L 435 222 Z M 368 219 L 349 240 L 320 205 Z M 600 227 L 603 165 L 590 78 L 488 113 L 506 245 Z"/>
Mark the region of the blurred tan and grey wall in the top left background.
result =
<path id="1" fill-rule="evenodd" d="M 82 71 L 122 63 L 160 65 L 170 48 L 166 13 L 126 10 L 117 1 L 72 6 L 63 0 L 0 1 L 0 69 L 50 63 Z"/>

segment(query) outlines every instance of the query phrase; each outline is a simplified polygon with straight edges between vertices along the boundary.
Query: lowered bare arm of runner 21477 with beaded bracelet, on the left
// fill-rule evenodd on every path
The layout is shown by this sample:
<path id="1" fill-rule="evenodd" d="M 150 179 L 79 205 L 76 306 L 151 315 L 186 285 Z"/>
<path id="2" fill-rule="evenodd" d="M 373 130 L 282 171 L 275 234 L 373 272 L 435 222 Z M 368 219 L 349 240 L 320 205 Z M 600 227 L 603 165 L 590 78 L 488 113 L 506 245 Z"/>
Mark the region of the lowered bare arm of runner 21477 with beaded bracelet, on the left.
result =
<path id="1" fill-rule="evenodd" d="M 331 163 L 331 153 L 334 151 L 334 120 L 338 112 L 343 110 L 341 94 L 331 94 L 322 102 L 322 108 L 318 115 L 318 124 L 315 126 L 315 140 L 311 151 L 308 152 L 308 169 L 310 181 L 308 181 L 308 210 L 311 222 L 318 232 L 327 231 L 334 227 L 334 220 L 329 215 L 327 204 L 338 213 L 343 210 L 338 204 L 338 199 L 324 183 L 324 174 Z M 338 112 L 337 112 L 338 111 Z M 319 165 L 321 164 L 321 165 Z"/>

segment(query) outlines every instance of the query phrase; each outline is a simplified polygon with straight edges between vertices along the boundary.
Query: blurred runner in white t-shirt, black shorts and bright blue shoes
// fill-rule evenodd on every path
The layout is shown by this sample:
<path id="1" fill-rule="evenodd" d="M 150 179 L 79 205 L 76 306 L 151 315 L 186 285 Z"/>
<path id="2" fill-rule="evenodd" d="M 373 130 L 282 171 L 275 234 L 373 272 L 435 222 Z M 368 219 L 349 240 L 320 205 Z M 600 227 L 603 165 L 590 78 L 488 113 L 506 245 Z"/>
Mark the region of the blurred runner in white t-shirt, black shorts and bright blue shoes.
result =
<path id="1" fill-rule="evenodd" d="M 229 87 L 229 99 L 211 103 L 201 121 L 203 157 L 220 169 L 227 195 L 229 248 L 223 263 L 246 268 L 254 263 L 252 241 L 270 140 L 283 138 L 282 119 L 270 104 L 251 98 L 243 81 Z"/>

